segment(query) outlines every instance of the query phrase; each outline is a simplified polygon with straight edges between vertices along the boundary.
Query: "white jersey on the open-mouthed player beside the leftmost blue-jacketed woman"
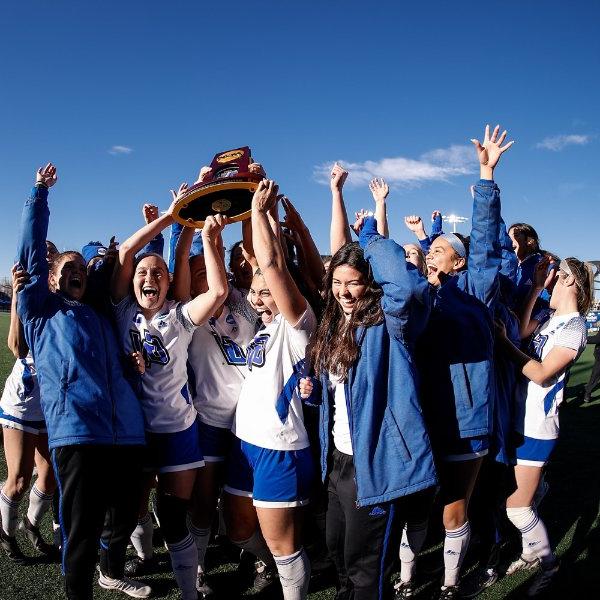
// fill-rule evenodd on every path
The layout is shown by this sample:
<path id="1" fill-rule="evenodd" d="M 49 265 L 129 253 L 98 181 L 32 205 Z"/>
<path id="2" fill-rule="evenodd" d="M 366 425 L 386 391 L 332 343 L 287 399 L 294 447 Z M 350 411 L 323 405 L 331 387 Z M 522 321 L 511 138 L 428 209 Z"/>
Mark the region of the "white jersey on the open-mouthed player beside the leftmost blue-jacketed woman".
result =
<path id="1" fill-rule="evenodd" d="M 146 429 L 175 433 L 191 427 L 196 411 L 188 389 L 187 356 L 195 325 L 187 306 L 167 300 L 148 322 L 135 299 L 127 296 L 114 311 L 125 353 L 142 352 L 146 363 L 140 398 Z"/>

